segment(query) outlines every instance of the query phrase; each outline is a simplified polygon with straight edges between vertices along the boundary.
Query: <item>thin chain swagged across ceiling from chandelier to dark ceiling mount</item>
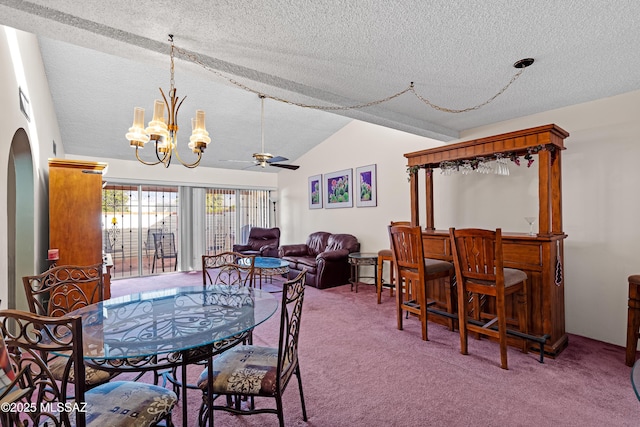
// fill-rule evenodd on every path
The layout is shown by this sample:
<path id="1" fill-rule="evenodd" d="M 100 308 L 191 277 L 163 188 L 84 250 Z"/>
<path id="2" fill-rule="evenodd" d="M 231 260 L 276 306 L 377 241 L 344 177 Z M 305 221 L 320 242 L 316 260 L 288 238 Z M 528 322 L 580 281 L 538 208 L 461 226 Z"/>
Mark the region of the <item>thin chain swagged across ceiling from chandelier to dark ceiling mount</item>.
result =
<path id="1" fill-rule="evenodd" d="M 173 70 L 173 40 L 171 39 L 171 52 L 172 52 L 172 56 L 171 56 L 171 67 Z M 305 104 L 305 103 L 301 103 L 301 102 L 295 102 L 295 101 L 291 101 L 285 98 L 281 98 L 278 96 L 274 96 L 274 95 L 268 95 L 265 94 L 264 92 L 258 91 L 256 89 L 253 89 L 249 86 L 247 86 L 244 83 L 239 82 L 238 80 L 234 79 L 233 77 L 227 76 L 226 74 L 220 72 L 219 70 L 216 70 L 212 67 L 210 67 L 209 65 L 203 63 L 197 55 L 193 54 L 193 53 L 189 53 L 179 47 L 175 47 L 175 50 L 182 55 L 183 57 L 187 58 L 188 60 L 190 60 L 191 62 L 198 64 L 199 66 L 203 67 L 204 69 L 210 71 L 211 73 L 215 74 L 216 76 L 228 81 L 229 83 L 231 83 L 232 85 L 246 90 L 248 92 L 251 93 L 255 93 L 261 97 L 265 97 L 265 98 L 269 98 L 269 99 L 273 99 L 274 101 L 279 101 L 279 102 L 283 102 L 285 104 L 289 104 L 289 105 L 295 105 L 297 107 L 302 107 L 302 108 L 311 108 L 311 109 L 315 109 L 315 110 L 323 110 L 323 111 L 340 111 L 340 110 L 358 110 L 358 109 L 362 109 L 362 108 L 367 108 L 367 107 L 373 107 L 379 104 L 383 104 L 385 102 L 389 102 L 395 98 L 398 98 L 402 95 L 404 95 L 407 92 L 411 92 L 413 93 L 413 95 L 418 98 L 420 101 L 422 101 L 425 105 L 427 105 L 428 107 L 431 107 L 435 110 L 438 111 L 442 111 L 445 113 L 465 113 L 465 112 L 469 112 L 469 111 L 473 111 L 473 110 L 478 110 L 479 108 L 484 107 L 485 105 L 489 104 L 490 102 L 494 101 L 497 97 L 499 97 L 500 95 L 502 95 L 517 79 L 518 77 L 520 77 L 522 75 L 522 73 L 524 72 L 524 70 L 526 68 L 521 68 L 520 70 L 518 70 L 513 77 L 511 77 L 511 80 L 502 88 L 500 89 L 495 95 L 493 95 L 492 97 L 490 97 L 489 99 L 487 99 L 486 101 L 477 104 L 473 107 L 468 107 L 468 108 L 462 108 L 462 109 L 453 109 L 453 108 L 447 108 L 447 107 L 442 107 L 440 105 L 437 105 L 433 102 L 431 102 L 429 99 L 425 98 L 424 96 L 420 95 L 418 92 L 416 92 L 415 86 L 413 84 L 413 82 L 411 82 L 411 84 L 409 85 L 409 87 L 407 87 L 404 90 L 401 90 L 400 92 L 394 93 L 392 95 L 387 96 L 386 98 L 382 98 L 382 99 L 378 99 L 378 100 L 374 100 L 374 101 L 370 101 L 370 102 L 366 102 L 366 103 L 362 103 L 362 104 L 355 104 L 355 105 L 347 105 L 347 106 L 329 106 L 329 105 L 315 105 L 315 104 Z M 173 72 L 173 71 L 172 71 Z M 173 77 L 173 74 L 172 74 Z"/>

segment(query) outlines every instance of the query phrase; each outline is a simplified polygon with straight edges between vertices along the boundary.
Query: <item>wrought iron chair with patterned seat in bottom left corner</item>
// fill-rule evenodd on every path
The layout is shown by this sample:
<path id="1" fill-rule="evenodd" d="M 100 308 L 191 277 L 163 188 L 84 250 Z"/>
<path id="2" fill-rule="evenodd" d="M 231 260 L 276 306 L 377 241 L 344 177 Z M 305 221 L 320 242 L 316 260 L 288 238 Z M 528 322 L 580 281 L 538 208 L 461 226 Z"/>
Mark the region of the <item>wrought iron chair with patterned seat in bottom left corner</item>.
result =
<path id="1" fill-rule="evenodd" d="M 77 316 L 47 317 L 19 310 L 0 311 L 0 336 L 9 358 L 20 374 L 17 384 L 27 390 L 18 401 L 33 409 L 8 414 L 8 425 L 52 426 L 172 426 L 171 411 L 177 396 L 162 387 L 134 381 L 114 381 L 85 390 L 83 381 L 71 377 L 85 373 L 82 319 Z M 53 376 L 48 355 L 65 354 L 62 378 Z M 73 387 L 73 398 L 67 388 Z M 27 406 L 29 405 L 29 406 Z M 64 408 L 59 410 L 58 408 Z M 3 424 L 4 425 L 4 424 Z"/>

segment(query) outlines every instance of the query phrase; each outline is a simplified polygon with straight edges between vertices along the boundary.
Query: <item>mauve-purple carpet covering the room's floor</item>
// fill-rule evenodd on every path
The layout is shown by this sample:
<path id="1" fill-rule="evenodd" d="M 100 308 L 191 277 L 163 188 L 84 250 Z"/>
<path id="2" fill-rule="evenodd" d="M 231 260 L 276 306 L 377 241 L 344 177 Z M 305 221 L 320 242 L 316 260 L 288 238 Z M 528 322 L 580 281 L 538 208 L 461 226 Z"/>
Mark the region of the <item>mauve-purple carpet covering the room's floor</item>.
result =
<path id="1" fill-rule="evenodd" d="M 124 279 L 112 283 L 112 295 L 201 283 L 200 272 Z M 263 288 L 278 289 L 278 283 Z M 254 344 L 275 345 L 278 320 L 274 315 L 260 325 Z M 376 304 L 373 286 L 361 285 L 357 294 L 349 286 L 307 287 L 299 356 L 309 421 L 302 420 L 294 380 L 284 393 L 286 425 L 640 425 L 640 402 L 621 347 L 570 335 L 569 347 L 544 364 L 536 353 L 509 348 L 505 371 L 497 343 L 470 338 L 469 355 L 463 356 L 457 332 L 430 323 L 430 340 L 422 341 L 416 319 L 406 320 L 403 331 L 395 322 L 394 300 L 385 292 Z M 189 375 L 195 379 L 200 370 L 191 367 Z M 188 426 L 197 425 L 200 397 L 189 391 Z M 176 425 L 182 425 L 181 410 L 174 409 Z M 271 414 L 216 412 L 215 425 L 278 421 Z"/>

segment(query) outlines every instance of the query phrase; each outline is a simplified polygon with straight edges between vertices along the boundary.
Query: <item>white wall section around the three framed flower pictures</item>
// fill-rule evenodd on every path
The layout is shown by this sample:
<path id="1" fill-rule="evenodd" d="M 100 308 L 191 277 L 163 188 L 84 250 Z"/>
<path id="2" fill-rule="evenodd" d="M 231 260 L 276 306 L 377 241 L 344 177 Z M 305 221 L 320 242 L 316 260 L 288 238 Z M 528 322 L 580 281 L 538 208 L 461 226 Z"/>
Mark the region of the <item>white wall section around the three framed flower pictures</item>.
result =
<path id="1" fill-rule="evenodd" d="M 321 145 L 299 159 L 296 172 L 280 175 L 282 243 L 303 243 L 314 231 L 349 233 L 358 238 L 362 252 L 389 247 L 390 221 L 410 219 L 407 159 L 404 153 L 442 145 L 429 138 L 357 120 L 350 122 Z M 308 177 L 360 166 L 377 165 L 378 206 L 341 209 L 309 209 Z M 446 184 L 446 183 L 445 183 Z M 445 186 L 442 186 L 445 187 Z M 436 204 L 446 188 L 439 188 Z M 422 212 L 424 216 L 424 212 Z M 443 214 L 445 216 L 446 214 Z M 421 220 L 424 223 L 424 219 Z"/>

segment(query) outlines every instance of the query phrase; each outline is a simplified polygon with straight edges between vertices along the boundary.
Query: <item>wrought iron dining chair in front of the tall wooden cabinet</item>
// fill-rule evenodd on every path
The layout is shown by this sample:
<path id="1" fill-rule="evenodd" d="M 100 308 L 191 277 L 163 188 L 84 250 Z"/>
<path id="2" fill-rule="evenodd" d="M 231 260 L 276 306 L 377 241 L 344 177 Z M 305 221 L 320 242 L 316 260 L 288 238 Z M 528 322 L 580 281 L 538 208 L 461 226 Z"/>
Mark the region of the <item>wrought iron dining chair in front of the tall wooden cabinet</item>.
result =
<path id="1" fill-rule="evenodd" d="M 60 265 L 42 274 L 22 278 L 29 311 L 41 316 L 60 317 L 73 310 L 104 300 L 102 263 L 87 266 Z M 65 375 L 64 357 L 51 355 L 49 367 L 58 379 Z M 71 372 L 73 374 L 73 371 Z M 87 367 L 87 388 L 110 381 L 117 373 Z M 75 377 L 70 378 L 75 382 Z"/>

